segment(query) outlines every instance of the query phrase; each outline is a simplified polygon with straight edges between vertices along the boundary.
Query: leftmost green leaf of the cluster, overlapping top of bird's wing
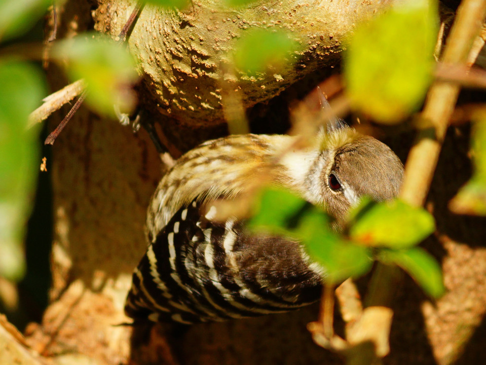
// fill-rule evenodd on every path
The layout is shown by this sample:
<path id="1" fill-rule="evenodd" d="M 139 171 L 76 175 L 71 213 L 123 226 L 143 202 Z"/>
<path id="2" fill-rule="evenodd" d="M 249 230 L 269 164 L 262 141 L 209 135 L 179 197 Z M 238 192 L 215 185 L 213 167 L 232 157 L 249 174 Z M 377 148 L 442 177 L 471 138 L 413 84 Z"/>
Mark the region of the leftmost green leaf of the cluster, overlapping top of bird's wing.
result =
<path id="1" fill-rule="evenodd" d="M 255 214 L 248 222 L 248 228 L 274 233 L 288 233 L 292 219 L 308 204 L 288 190 L 275 188 L 265 188 L 256 201 Z"/>

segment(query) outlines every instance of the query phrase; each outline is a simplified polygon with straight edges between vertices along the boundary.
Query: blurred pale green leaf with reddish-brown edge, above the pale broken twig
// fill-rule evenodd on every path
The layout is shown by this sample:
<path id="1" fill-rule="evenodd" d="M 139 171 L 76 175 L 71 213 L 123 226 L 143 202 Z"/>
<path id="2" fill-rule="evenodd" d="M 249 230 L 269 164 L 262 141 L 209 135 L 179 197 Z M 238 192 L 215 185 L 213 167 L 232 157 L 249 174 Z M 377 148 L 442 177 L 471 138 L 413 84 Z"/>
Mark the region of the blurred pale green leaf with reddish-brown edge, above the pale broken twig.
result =
<path id="1" fill-rule="evenodd" d="M 113 106 L 129 112 L 134 105 L 131 85 L 136 81 L 135 62 L 126 47 L 98 33 L 84 33 L 53 47 L 59 62 L 67 59 L 71 81 L 84 79 L 87 102 L 99 113 L 114 115 Z"/>

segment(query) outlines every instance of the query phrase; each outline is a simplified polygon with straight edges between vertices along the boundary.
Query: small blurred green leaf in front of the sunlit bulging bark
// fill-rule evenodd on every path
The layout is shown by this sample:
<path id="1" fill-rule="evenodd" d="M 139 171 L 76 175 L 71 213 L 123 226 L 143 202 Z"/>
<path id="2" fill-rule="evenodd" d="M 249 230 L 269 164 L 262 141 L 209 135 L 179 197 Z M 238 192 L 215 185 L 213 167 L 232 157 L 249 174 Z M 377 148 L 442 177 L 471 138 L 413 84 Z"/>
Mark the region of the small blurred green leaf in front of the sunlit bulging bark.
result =
<path id="1" fill-rule="evenodd" d="M 283 30 L 248 30 L 235 45 L 234 65 L 248 75 L 267 70 L 278 72 L 295 61 L 292 52 L 296 47 L 296 42 Z"/>

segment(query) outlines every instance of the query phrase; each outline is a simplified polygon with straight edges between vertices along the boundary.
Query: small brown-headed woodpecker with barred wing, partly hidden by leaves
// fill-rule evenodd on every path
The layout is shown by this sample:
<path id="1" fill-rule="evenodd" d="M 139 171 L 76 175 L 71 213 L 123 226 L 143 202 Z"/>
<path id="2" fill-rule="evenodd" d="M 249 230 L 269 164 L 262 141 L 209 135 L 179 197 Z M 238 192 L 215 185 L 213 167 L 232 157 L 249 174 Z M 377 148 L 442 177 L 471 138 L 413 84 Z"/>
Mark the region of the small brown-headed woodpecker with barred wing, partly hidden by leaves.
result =
<path id="1" fill-rule="evenodd" d="M 284 312 L 319 299 L 325 269 L 287 237 L 250 233 L 244 220 L 214 219 L 215 199 L 245 197 L 261 181 L 324 206 L 338 223 L 360 196 L 391 199 L 403 167 L 375 138 L 341 127 L 304 150 L 294 137 L 229 136 L 182 156 L 147 213 L 149 246 L 133 274 L 133 318 L 194 323 Z"/>

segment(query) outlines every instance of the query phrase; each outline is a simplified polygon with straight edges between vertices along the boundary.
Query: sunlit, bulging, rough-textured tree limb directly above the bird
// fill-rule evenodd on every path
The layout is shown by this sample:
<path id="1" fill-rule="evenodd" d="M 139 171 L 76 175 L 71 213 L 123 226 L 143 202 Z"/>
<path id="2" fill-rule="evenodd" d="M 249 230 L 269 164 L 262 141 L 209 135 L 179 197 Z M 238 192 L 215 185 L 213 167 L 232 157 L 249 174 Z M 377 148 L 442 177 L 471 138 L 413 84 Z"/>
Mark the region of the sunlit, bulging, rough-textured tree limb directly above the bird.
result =
<path id="1" fill-rule="evenodd" d="M 392 2 L 257 1 L 232 10 L 219 1 L 203 0 L 182 11 L 147 5 L 128 40 L 142 75 L 140 99 L 162 124 L 170 143 L 187 150 L 226 133 L 225 93 L 238 92 L 243 106 L 249 108 L 305 76 L 336 65 L 346 34 Z M 93 15 L 95 29 L 118 35 L 135 3 L 100 0 Z M 289 66 L 251 77 L 233 70 L 234 46 L 252 29 L 288 30 L 297 42 Z"/>

